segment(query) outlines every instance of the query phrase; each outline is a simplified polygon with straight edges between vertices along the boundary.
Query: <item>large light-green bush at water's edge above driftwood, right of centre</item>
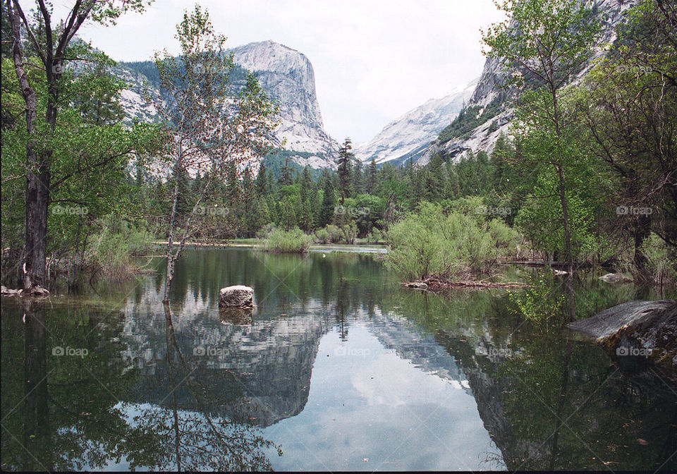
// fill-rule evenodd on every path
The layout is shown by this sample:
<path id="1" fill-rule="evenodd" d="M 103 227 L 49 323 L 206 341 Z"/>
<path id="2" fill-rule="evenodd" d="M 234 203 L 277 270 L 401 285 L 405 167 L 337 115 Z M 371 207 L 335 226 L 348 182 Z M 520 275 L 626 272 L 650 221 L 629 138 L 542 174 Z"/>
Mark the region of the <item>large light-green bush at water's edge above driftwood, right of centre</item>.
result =
<path id="1" fill-rule="evenodd" d="M 516 248 L 518 233 L 501 219 L 470 211 L 472 202 L 441 205 L 422 202 L 417 212 L 391 226 L 386 256 L 406 279 L 482 274 Z"/>

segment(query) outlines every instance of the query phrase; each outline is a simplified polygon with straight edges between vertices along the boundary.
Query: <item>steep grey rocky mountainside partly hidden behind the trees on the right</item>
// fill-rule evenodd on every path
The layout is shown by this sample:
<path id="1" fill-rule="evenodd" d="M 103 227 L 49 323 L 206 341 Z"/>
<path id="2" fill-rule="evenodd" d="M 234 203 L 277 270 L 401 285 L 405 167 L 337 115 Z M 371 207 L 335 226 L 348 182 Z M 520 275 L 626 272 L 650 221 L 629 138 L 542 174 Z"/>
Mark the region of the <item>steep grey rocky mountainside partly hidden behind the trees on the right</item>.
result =
<path id="1" fill-rule="evenodd" d="M 637 3 L 637 0 L 597 0 L 593 11 L 602 20 L 602 35 L 593 48 L 593 54 L 587 66 L 573 78 L 578 83 L 590 70 L 592 62 L 606 54 L 606 45 L 616 38 L 616 25 L 623 20 L 623 12 Z M 435 153 L 447 159 L 459 159 L 465 152 L 492 152 L 496 139 L 501 133 L 508 133 L 508 126 L 513 118 L 513 109 L 508 106 L 520 95 L 518 87 L 503 87 L 507 73 L 501 61 L 487 58 L 480 80 L 470 101 L 459 114 L 456 121 L 448 124 L 441 131 L 437 140 L 420 154 L 417 164 L 427 164 Z"/>

